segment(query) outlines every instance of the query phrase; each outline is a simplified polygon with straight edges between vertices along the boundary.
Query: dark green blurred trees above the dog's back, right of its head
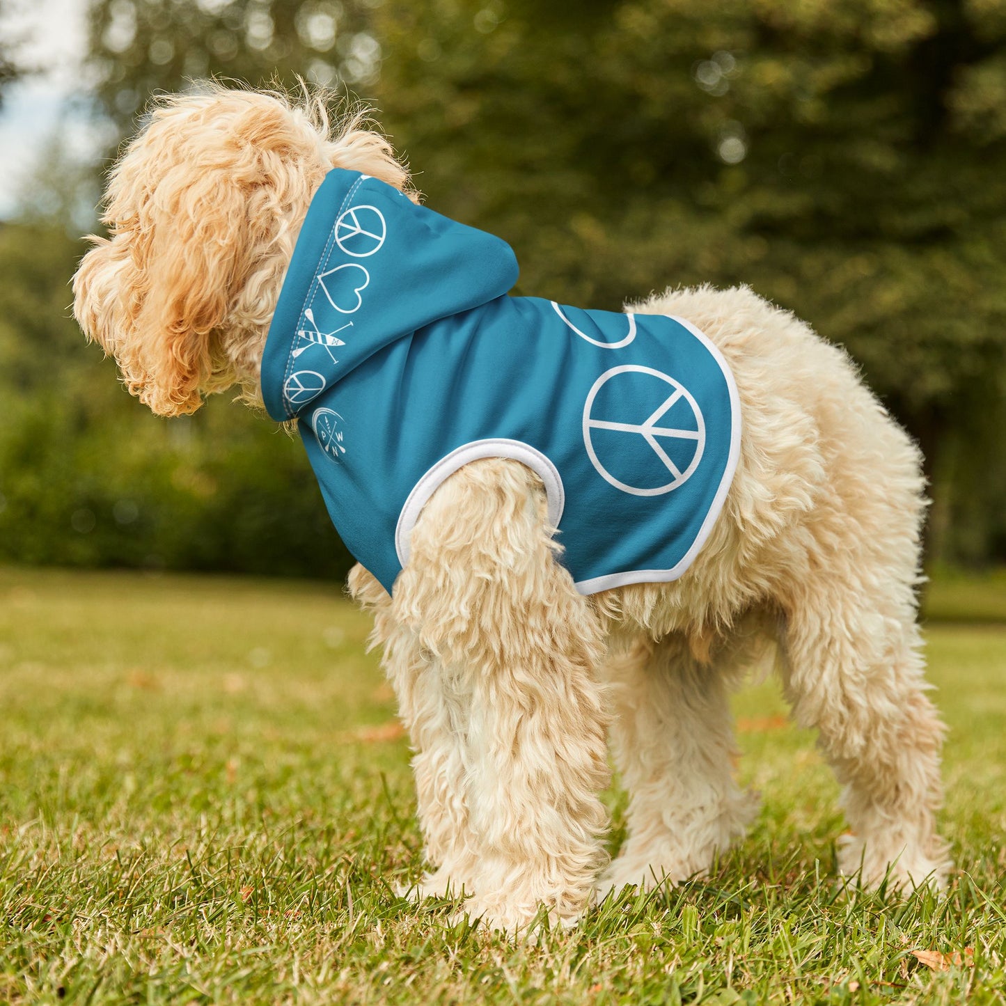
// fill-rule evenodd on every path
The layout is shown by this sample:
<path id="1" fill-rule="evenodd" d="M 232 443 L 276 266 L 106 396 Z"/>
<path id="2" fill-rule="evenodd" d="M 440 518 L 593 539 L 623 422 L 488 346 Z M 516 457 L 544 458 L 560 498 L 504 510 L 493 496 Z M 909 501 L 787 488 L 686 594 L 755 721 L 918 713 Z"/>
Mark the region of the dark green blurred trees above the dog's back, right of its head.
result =
<path id="1" fill-rule="evenodd" d="M 507 237 L 524 290 L 748 283 L 863 365 L 938 502 L 960 430 L 967 467 L 1003 470 L 981 422 L 1006 390 L 1002 4 L 400 0 L 374 31 L 421 187 Z M 973 556 L 1002 534 L 982 492 Z"/>

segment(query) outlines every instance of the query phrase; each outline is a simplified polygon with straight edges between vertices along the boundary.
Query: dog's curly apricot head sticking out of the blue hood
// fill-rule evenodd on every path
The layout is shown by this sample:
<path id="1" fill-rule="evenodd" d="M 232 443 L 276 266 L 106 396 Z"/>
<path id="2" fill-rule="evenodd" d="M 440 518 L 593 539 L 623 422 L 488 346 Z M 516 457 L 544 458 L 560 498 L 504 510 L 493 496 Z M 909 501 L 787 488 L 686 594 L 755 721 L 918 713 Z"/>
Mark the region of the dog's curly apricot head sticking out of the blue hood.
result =
<path id="1" fill-rule="evenodd" d="M 113 169 L 103 222 L 73 278 L 73 313 L 161 415 L 234 384 L 261 400 L 269 323 L 311 197 L 332 167 L 404 189 L 362 115 L 324 101 L 210 87 L 156 102 Z"/>

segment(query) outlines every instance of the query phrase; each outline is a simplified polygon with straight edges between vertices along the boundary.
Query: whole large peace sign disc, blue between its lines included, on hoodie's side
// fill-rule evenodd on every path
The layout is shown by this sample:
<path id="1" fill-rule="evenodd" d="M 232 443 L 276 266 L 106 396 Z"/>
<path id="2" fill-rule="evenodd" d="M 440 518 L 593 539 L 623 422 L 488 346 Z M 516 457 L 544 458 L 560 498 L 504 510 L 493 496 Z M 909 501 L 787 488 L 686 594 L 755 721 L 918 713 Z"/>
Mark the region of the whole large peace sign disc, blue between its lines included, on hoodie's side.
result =
<path id="1" fill-rule="evenodd" d="M 661 496 L 684 485 L 698 468 L 705 420 L 679 381 L 652 367 L 627 364 L 606 371 L 591 388 L 583 403 L 583 445 L 598 474 L 616 489 Z"/>

